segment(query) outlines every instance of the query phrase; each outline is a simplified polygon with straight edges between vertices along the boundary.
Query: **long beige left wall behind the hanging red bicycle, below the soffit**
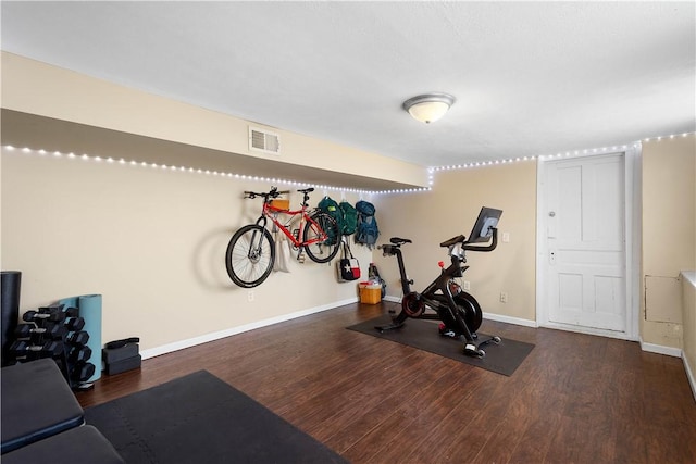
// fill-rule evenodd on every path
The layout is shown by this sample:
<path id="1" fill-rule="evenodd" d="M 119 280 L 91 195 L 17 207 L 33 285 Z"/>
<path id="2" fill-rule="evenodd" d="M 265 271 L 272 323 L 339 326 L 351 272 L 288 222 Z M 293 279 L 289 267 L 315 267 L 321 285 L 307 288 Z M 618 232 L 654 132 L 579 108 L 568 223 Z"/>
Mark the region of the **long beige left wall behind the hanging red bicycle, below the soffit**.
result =
<path id="1" fill-rule="evenodd" d="M 157 349 L 357 298 L 310 260 L 271 275 L 253 302 L 232 284 L 227 241 L 260 208 L 241 192 L 268 184 L 3 149 L 1 187 L 2 268 L 23 273 L 21 312 L 101 293 L 104 342 Z M 353 252 L 366 273 L 369 251 Z"/>

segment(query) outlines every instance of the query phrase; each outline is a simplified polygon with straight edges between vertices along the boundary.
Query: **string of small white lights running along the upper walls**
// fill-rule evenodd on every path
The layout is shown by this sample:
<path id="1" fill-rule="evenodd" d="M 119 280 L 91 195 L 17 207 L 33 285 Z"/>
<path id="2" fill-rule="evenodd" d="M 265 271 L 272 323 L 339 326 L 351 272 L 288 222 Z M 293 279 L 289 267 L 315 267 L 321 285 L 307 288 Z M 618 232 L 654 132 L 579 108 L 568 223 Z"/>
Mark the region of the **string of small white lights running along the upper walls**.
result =
<path id="1" fill-rule="evenodd" d="M 10 145 L 3 146 L 3 149 L 9 153 L 18 152 L 23 154 L 38 155 L 38 156 L 46 156 L 46 158 L 82 160 L 82 161 L 88 161 L 88 162 L 95 162 L 95 163 L 115 164 L 115 165 L 129 165 L 129 166 L 146 167 L 149 170 L 161 170 L 161 171 L 170 171 L 170 172 L 177 172 L 177 173 L 206 175 L 206 176 L 228 178 L 228 179 L 235 179 L 235 180 L 259 181 L 259 183 L 266 183 L 272 185 L 286 185 L 286 186 L 300 187 L 300 188 L 314 187 L 316 189 L 321 189 L 324 191 L 333 190 L 333 191 L 340 191 L 340 192 L 351 192 L 351 193 L 372 196 L 372 195 L 414 193 L 414 192 L 430 191 L 433 189 L 432 186 L 435 181 L 434 180 L 435 174 L 440 171 L 471 170 L 471 168 L 477 168 L 477 167 L 488 167 L 488 166 L 496 166 L 496 165 L 523 163 L 523 162 L 530 162 L 530 161 L 549 161 L 549 160 L 561 159 L 561 158 L 583 156 L 583 155 L 597 154 L 597 153 L 608 153 L 612 151 L 625 151 L 629 148 L 639 148 L 642 142 L 672 140 L 679 137 L 687 137 L 694 134 L 695 133 L 673 134 L 669 136 L 645 138 L 632 143 L 608 146 L 608 147 L 584 149 L 584 150 L 566 151 L 566 152 L 559 152 L 555 154 L 517 156 L 517 158 L 507 158 L 507 159 L 500 159 L 500 160 L 474 161 L 474 162 L 468 162 L 468 163 L 456 164 L 456 165 L 447 165 L 447 166 L 431 166 L 431 167 L 427 167 L 428 187 L 391 189 L 391 190 L 365 190 L 365 189 L 351 188 L 351 187 L 316 185 L 311 183 L 303 183 L 303 181 L 283 179 L 283 178 L 276 178 L 276 177 L 263 177 L 263 176 L 231 173 L 225 171 L 204 170 L 204 168 L 181 166 L 181 165 L 167 165 L 163 163 L 151 163 L 146 161 L 126 160 L 124 158 L 112 158 L 112 156 L 104 158 L 104 156 L 91 155 L 87 153 L 76 154 L 73 152 L 64 153 L 61 151 L 48 151 L 44 149 L 35 150 L 26 147 L 16 148 Z"/>

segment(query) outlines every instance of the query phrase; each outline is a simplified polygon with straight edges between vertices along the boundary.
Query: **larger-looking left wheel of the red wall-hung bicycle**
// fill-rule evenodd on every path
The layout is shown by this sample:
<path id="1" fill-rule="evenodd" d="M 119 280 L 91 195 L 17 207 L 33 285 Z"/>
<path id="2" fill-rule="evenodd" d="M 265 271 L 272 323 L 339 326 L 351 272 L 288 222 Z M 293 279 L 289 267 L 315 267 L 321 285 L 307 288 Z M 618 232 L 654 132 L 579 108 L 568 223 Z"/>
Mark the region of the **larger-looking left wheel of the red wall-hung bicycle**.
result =
<path id="1" fill-rule="evenodd" d="M 275 262 L 275 243 L 265 228 L 250 224 L 232 236 L 225 254 L 225 265 L 232 281 L 251 288 L 265 280 Z"/>

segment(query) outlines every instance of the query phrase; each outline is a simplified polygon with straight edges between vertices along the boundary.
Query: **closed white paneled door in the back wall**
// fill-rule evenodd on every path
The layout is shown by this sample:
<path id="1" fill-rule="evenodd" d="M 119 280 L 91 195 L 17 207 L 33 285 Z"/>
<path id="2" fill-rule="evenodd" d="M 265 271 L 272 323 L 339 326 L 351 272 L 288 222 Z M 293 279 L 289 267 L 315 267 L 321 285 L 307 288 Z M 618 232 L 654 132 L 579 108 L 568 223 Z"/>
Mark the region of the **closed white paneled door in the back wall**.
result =
<path id="1" fill-rule="evenodd" d="M 545 163 L 546 325 L 626 334 L 624 163 L 624 153 Z"/>

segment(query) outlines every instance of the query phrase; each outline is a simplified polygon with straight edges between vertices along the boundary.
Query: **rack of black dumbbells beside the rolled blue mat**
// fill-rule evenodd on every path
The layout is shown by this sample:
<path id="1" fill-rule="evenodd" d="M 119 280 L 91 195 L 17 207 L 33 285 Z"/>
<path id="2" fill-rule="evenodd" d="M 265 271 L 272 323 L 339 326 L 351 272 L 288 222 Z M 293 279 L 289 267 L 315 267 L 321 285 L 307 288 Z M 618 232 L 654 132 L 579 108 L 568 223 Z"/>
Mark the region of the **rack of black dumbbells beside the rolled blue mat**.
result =
<path id="1" fill-rule="evenodd" d="M 85 319 L 76 308 L 63 304 L 27 311 L 15 329 L 15 341 L 10 353 L 15 362 L 28 362 L 40 358 L 52 358 L 61 368 L 67 384 L 74 390 L 87 390 L 87 383 L 95 373 L 89 362 L 91 349 L 87 347 L 89 334 L 83 330 Z"/>

